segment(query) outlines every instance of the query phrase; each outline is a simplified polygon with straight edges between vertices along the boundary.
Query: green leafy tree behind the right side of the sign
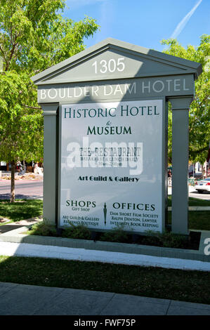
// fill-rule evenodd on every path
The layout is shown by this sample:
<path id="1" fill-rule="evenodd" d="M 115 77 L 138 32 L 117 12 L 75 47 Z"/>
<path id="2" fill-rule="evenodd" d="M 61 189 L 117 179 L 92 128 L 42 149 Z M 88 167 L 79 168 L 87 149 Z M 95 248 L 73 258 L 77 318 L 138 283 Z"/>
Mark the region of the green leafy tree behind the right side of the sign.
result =
<path id="1" fill-rule="evenodd" d="M 195 81 L 195 99 L 190 105 L 189 112 L 189 159 L 204 164 L 210 140 L 210 36 L 204 34 L 197 48 L 188 46 L 186 49 L 175 39 L 163 40 L 162 44 L 169 46 L 164 51 L 169 55 L 179 56 L 187 60 L 202 63 L 203 72 Z M 171 157 L 171 111 L 169 110 L 169 157 Z"/>

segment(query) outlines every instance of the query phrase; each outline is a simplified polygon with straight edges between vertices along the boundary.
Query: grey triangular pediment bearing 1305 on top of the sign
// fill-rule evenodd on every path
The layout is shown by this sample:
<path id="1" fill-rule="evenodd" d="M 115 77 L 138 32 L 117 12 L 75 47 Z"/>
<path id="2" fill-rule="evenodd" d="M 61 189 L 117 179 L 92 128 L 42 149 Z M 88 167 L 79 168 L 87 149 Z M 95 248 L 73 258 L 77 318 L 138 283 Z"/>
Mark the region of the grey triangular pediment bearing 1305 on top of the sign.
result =
<path id="1" fill-rule="evenodd" d="M 202 72 L 202 65 L 158 51 L 105 39 L 32 77 L 37 85 L 161 77 Z"/>

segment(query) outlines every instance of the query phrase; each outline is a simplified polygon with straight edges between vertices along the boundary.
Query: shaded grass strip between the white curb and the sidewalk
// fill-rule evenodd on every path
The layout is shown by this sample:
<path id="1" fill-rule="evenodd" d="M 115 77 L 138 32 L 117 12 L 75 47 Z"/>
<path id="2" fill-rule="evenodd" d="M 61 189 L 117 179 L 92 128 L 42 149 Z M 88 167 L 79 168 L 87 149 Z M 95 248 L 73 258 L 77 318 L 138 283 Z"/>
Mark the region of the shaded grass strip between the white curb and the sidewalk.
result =
<path id="1" fill-rule="evenodd" d="M 210 304 L 209 272 L 0 256 L 0 282 Z"/>

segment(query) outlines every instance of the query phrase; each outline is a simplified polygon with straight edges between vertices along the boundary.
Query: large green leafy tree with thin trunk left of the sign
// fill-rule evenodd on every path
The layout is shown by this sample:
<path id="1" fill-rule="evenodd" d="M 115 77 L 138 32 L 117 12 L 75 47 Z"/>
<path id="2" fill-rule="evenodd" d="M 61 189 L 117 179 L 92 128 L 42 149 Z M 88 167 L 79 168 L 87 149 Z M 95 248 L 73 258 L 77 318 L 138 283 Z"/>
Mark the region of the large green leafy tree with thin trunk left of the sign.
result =
<path id="1" fill-rule="evenodd" d="M 58 11 L 65 0 L 0 0 L 0 159 L 11 161 L 11 202 L 15 164 L 43 154 L 43 117 L 37 88 L 29 77 L 84 50 L 96 20 L 74 22 Z"/>

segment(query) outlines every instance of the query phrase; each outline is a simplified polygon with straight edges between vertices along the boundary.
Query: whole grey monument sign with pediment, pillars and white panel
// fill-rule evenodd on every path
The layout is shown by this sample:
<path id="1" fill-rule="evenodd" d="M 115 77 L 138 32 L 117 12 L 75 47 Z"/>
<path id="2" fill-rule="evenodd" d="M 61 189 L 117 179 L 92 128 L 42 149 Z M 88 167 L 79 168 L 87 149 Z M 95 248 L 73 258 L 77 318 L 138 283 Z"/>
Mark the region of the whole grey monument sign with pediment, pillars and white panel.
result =
<path id="1" fill-rule="evenodd" d="M 172 231 L 188 234 L 188 109 L 201 65 L 106 39 L 32 77 L 44 110 L 44 217 L 163 232 L 173 111 Z"/>

